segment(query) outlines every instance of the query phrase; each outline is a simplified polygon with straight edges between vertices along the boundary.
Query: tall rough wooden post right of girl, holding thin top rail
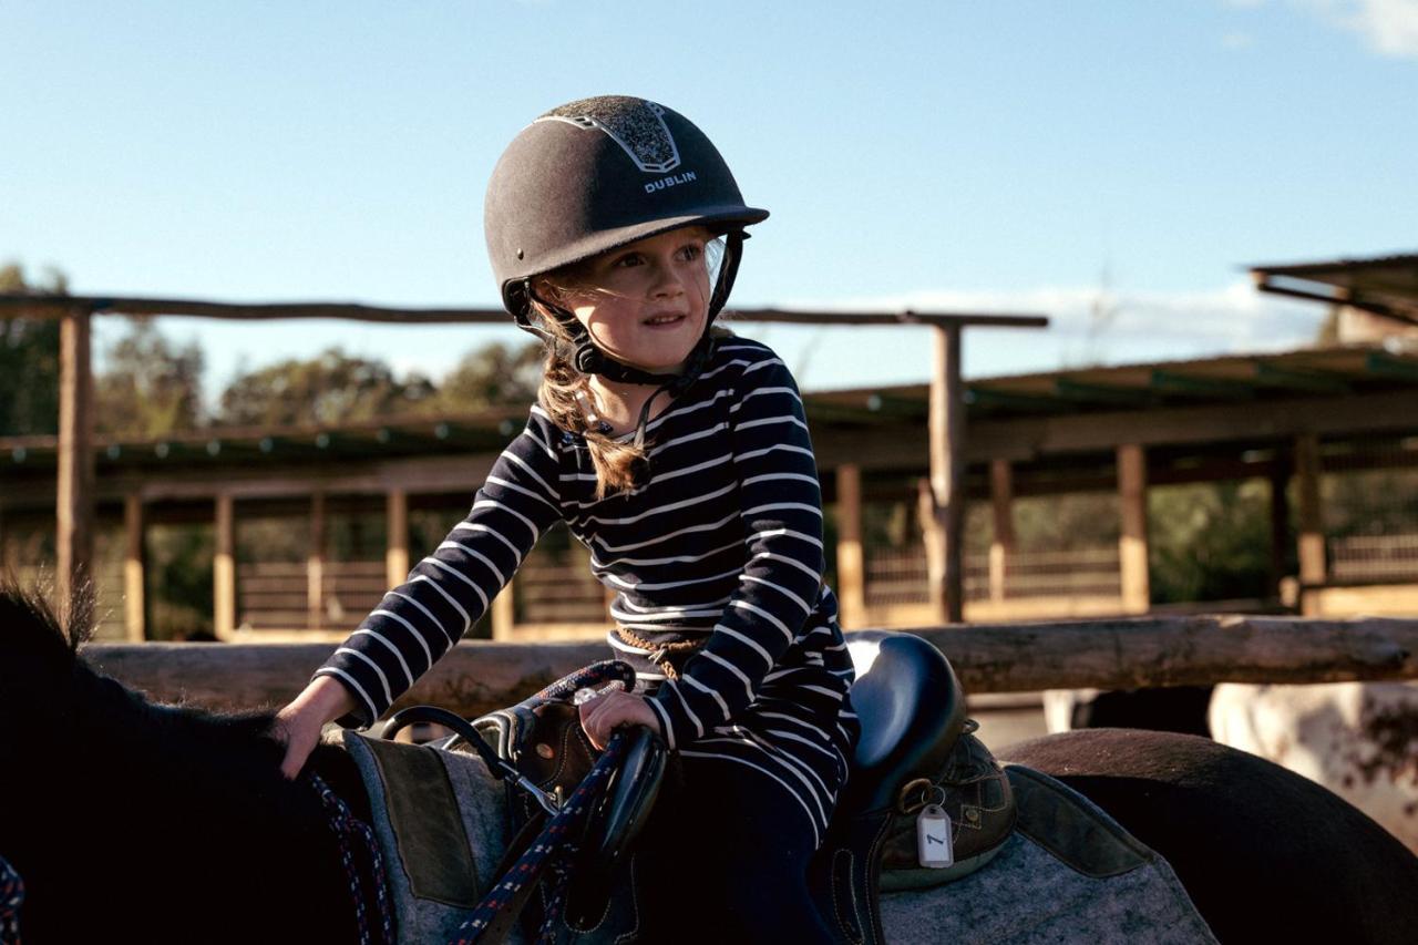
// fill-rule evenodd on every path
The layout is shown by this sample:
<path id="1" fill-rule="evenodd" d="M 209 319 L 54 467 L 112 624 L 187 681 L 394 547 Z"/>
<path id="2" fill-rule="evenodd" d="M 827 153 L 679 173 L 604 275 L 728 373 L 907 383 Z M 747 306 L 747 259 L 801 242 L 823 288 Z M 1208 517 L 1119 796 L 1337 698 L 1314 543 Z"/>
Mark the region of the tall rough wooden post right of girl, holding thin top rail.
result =
<path id="1" fill-rule="evenodd" d="M 964 604 L 964 568 L 961 539 L 964 538 L 964 471 L 966 471 L 966 406 L 964 383 L 960 377 L 960 328 L 934 329 L 934 370 L 930 376 L 930 494 L 936 528 L 927 531 L 934 541 L 934 553 L 927 551 L 930 572 L 930 603 L 937 619 L 960 623 Z"/>

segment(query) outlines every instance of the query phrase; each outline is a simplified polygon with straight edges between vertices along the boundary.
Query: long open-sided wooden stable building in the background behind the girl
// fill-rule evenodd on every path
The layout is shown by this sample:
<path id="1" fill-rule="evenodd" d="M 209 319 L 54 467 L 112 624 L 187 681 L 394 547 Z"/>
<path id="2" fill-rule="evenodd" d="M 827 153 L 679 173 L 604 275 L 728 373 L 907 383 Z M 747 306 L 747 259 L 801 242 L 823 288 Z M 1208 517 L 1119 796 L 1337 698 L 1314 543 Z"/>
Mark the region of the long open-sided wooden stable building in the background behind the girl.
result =
<path id="1" fill-rule="evenodd" d="M 1217 482 L 1246 482 L 1263 495 L 1268 565 L 1256 593 L 1210 609 L 1418 613 L 1415 262 L 1256 268 L 1263 291 L 1323 297 L 1316 285 L 1343 284 L 1344 305 L 1381 305 L 1383 314 L 1354 308 L 1394 324 L 1377 336 L 1341 328 L 1333 345 L 1285 353 L 959 382 L 963 617 L 1154 609 L 1149 497 Z M 1357 315 L 1337 318 L 1374 328 Z M 943 516 L 927 434 L 936 393 L 913 385 L 805 396 L 835 549 L 831 580 L 848 627 L 940 623 L 932 576 L 943 569 L 933 560 Z M 217 637 L 342 639 L 462 516 L 523 419 L 519 407 L 96 440 L 92 573 L 105 633 L 138 640 L 173 624 L 169 610 L 180 604 L 156 575 L 160 545 L 163 555 L 177 549 L 211 562 L 210 590 L 194 596 L 204 604 L 210 595 Z M 52 560 L 58 461 L 55 437 L 0 438 L 0 560 L 11 572 Z M 1341 494 L 1370 487 L 1397 507 L 1370 524 L 1330 514 Z M 1065 502 L 1086 529 L 1021 542 L 1021 515 L 1046 519 Z M 547 535 L 476 633 L 601 634 L 605 597 L 584 555 L 564 529 Z"/>

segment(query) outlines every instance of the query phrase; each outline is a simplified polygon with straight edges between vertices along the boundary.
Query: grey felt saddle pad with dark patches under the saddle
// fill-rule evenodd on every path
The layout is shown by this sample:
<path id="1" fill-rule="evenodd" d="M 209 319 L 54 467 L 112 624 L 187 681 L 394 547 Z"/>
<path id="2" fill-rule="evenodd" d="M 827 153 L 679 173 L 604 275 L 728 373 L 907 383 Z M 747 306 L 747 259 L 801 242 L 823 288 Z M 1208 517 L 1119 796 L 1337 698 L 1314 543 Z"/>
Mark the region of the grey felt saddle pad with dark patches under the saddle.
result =
<path id="1" fill-rule="evenodd" d="M 349 731 L 339 741 L 370 792 L 398 941 L 447 942 L 496 881 L 502 785 L 461 752 Z M 978 873 L 883 895 L 889 945 L 1217 941 L 1161 856 L 1061 782 L 1018 765 L 1005 773 L 1020 812 L 1014 834 Z"/>

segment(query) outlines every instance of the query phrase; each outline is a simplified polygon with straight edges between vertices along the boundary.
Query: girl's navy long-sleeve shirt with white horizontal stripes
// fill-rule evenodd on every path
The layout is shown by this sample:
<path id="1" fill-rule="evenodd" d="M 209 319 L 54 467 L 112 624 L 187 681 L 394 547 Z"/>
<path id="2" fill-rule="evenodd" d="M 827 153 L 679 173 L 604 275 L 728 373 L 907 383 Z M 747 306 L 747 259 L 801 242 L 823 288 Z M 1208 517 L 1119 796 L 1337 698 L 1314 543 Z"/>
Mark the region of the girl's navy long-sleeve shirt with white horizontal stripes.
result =
<path id="1" fill-rule="evenodd" d="M 716 742 L 747 732 L 774 745 L 811 744 L 795 753 L 828 758 L 814 770 L 821 790 L 813 793 L 830 809 L 856 732 L 847 695 L 852 670 L 822 583 L 821 492 L 791 373 L 764 345 L 720 338 L 700 377 L 647 433 L 641 484 L 596 499 L 584 438 L 533 407 L 468 516 L 318 674 L 345 682 L 362 707 L 359 721 L 373 721 L 472 626 L 562 519 L 615 592 L 618 626 L 655 644 L 703 643 L 679 667 L 681 678 L 649 700 L 671 746 L 712 753 Z M 611 644 L 642 677 L 662 678 L 635 660 L 644 648 L 615 633 Z"/>

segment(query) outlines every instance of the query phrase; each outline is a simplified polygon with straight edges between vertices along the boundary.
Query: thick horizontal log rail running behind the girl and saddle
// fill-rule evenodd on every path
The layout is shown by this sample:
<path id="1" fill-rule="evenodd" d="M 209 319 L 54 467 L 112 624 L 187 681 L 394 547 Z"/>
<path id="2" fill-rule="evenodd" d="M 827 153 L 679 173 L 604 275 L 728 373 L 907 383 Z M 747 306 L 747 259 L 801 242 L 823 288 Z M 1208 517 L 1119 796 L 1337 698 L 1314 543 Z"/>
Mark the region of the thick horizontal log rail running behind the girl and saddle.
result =
<path id="1" fill-rule="evenodd" d="M 1418 620 L 1181 616 L 913 630 L 950 657 L 970 692 L 1210 682 L 1418 678 Z M 851 636 L 851 634 L 848 634 Z M 94 644 L 89 660 L 156 698 L 213 708 L 279 705 L 329 644 Z M 400 705 L 475 715 L 605 658 L 604 643 L 459 644 Z"/>

